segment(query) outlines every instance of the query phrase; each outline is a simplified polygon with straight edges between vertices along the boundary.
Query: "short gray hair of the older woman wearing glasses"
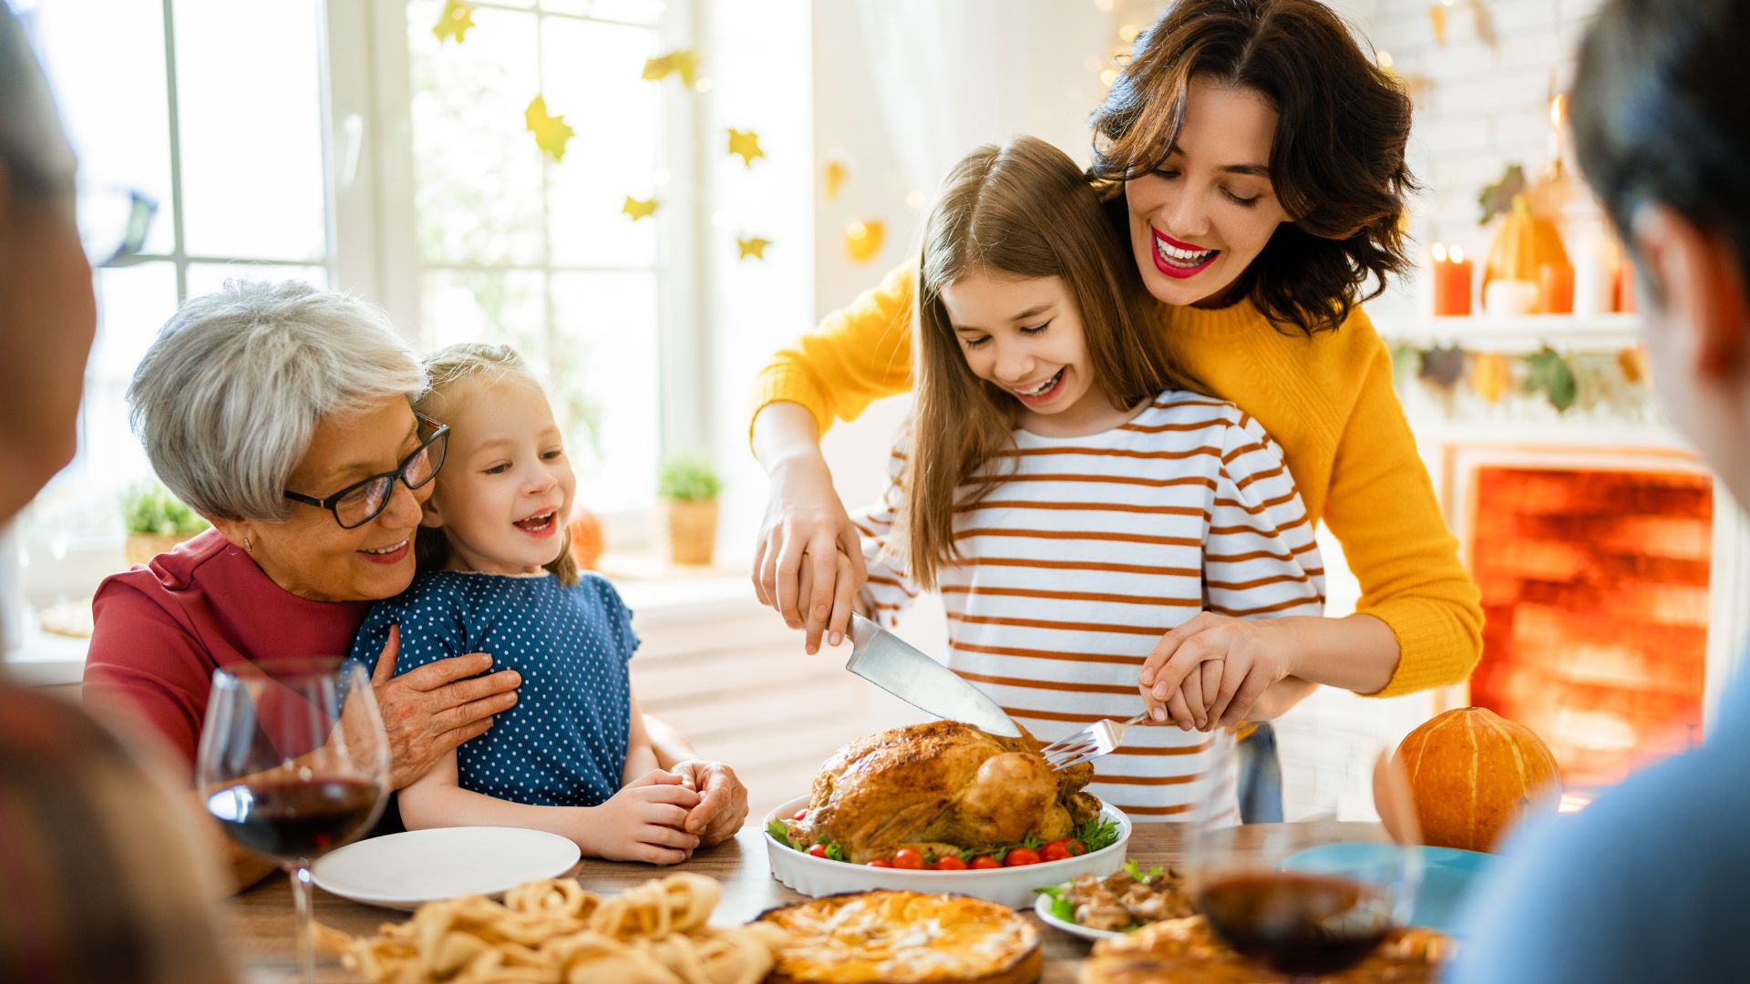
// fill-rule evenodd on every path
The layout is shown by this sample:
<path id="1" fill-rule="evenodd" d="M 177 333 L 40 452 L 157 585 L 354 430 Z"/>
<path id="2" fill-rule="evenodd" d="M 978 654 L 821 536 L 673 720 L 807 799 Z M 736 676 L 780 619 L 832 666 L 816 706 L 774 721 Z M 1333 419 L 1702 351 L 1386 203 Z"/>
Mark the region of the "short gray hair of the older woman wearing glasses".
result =
<path id="1" fill-rule="evenodd" d="M 299 280 L 226 280 L 164 324 L 128 403 L 178 499 L 210 518 L 285 520 L 285 481 L 317 422 L 424 389 L 418 355 L 382 308 Z"/>

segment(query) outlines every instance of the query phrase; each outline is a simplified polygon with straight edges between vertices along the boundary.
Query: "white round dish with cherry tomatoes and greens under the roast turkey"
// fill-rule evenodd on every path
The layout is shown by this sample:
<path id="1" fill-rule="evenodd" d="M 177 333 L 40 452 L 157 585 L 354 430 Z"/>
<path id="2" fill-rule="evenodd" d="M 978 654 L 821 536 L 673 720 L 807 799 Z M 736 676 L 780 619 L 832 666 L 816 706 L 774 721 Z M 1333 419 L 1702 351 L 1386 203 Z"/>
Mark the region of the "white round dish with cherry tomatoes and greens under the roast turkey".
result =
<path id="1" fill-rule="evenodd" d="M 789 823 L 807 807 L 808 797 L 796 797 L 768 812 L 765 840 L 772 877 L 816 898 L 892 888 L 950 891 L 1026 909 L 1041 886 L 1116 872 L 1130 840 L 1130 819 L 1102 804 L 1099 816 L 1078 825 L 1071 835 L 1041 844 L 989 844 L 959 847 L 952 854 L 900 847 L 892 856 L 858 863 L 847 860 L 836 844 L 802 846 L 789 839 Z"/>

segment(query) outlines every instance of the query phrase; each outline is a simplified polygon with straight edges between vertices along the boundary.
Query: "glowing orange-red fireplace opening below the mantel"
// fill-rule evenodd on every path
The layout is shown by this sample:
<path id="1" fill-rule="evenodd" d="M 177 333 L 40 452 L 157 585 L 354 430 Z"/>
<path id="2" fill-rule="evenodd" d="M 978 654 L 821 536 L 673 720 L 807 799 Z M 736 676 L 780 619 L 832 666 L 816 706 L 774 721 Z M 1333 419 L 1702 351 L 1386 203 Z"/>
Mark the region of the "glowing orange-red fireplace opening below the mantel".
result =
<path id="1" fill-rule="evenodd" d="M 1572 795 L 1701 739 L 1713 483 L 1684 462 L 1480 464 L 1470 702 L 1549 742 Z"/>

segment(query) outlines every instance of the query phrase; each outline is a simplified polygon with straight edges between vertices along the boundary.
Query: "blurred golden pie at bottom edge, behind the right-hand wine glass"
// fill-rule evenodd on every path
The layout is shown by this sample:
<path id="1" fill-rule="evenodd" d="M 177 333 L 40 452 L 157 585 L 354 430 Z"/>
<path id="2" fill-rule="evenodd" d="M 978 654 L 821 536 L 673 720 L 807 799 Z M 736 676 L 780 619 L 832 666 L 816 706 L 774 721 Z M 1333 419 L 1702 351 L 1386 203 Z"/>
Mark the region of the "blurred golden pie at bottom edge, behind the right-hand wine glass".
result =
<path id="1" fill-rule="evenodd" d="M 1202 916 L 1152 923 L 1094 944 L 1076 984 L 1435 984 L 1452 938 L 1433 930 L 1391 930 L 1362 963 L 1335 973 L 1286 977 L 1228 949 Z"/>

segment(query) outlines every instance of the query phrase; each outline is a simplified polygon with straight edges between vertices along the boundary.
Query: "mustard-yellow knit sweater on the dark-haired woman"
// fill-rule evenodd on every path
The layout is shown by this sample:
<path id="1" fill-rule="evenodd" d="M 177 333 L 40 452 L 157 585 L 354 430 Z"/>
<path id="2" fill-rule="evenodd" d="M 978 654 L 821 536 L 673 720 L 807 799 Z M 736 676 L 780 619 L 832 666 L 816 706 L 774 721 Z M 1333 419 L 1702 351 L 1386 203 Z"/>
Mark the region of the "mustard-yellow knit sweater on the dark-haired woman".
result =
<path id="1" fill-rule="evenodd" d="M 824 432 L 875 399 L 912 387 L 914 270 L 901 266 L 828 315 L 761 369 L 754 413 L 807 406 Z M 1335 333 L 1283 334 L 1250 303 L 1160 306 L 1186 369 L 1258 418 L 1288 457 L 1312 517 L 1342 543 L 1362 583 L 1358 613 L 1398 637 L 1398 667 L 1370 697 L 1470 676 L 1482 653 L 1482 606 L 1458 562 L 1428 471 L 1391 389 L 1391 355 L 1356 308 Z"/>

